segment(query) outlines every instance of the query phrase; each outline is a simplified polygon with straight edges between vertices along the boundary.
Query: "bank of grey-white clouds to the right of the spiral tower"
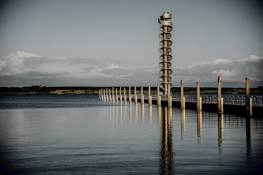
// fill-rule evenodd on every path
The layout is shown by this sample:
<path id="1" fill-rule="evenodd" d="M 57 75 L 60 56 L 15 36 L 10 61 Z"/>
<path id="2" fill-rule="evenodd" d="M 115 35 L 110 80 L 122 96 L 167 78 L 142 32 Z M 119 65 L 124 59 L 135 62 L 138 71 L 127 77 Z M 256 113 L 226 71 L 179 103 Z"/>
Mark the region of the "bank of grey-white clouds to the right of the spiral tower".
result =
<path id="1" fill-rule="evenodd" d="M 263 57 L 251 55 L 250 58 L 237 61 L 216 59 L 173 69 L 173 81 L 176 79 L 176 82 L 179 82 L 185 79 L 189 81 L 187 84 L 193 84 L 196 81 L 209 84 L 216 81 L 218 76 L 222 77 L 222 82 L 236 82 L 244 78 L 263 81 Z"/>

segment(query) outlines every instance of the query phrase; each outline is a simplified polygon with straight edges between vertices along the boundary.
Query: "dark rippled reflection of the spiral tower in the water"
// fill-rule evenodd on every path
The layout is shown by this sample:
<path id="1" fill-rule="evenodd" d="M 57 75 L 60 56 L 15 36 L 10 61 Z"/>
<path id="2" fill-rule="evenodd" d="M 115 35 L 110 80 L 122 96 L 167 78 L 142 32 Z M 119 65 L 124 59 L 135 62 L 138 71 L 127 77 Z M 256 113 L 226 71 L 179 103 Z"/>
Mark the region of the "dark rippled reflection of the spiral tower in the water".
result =
<path id="1" fill-rule="evenodd" d="M 158 109 L 159 108 L 159 109 Z M 159 120 L 158 126 L 160 133 L 160 174 L 173 174 L 174 172 L 174 153 L 172 140 L 172 108 L 158 107 Z"/>

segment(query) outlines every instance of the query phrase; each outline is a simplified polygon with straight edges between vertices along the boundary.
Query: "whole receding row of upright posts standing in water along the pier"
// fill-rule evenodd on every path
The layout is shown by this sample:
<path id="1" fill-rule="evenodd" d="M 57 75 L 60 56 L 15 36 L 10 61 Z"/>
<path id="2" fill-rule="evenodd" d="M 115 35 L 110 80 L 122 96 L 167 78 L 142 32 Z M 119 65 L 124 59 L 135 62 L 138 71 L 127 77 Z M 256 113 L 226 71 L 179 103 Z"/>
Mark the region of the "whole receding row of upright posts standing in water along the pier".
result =
<path id="1" fill-rule="evenodd" d="M 250 78 L 245 78 L 246 79 L 246 115 L 252 115 L 252 99 L 250 97 Z M 223 98 L 221 97 L 221 77 L 218 77 L 218 104 L 217 104 L 217 111 L 218 113 L 223 113 L 224 107 L 223 107 Z M 196 82 L 197 84 L 197 101 L 196 101 L 196 107 L 198 111 L 202 110 L 202 97 L 200 97 L 200 82 Z M 151 94 L 151 87 L 148 86 L 148 104 L 152 104 L 152 94 Z M 170 84 L 168 84 L 168 103 L 167 106 L 171 107 L 172 106 L 172 97 L 171 97 L 171 91 L 170 91 Z M 106 94 L 105 94 L 106 91 Z M 108 93 L 109 91 L 109 93 Z M 126 96 L 126 88 L 124 88 L 124 99 L 123 101 L 127 101 L 127 96 Z M 109 96 L 108 96 L 109 94 Z M 118 97 L 119 95 L 119 97 Z M 128 99 L 129 103 L 131 103 L 131 95 L 134 95 L 134 103 L 138 103 L 138 98 L 137 98 L 137 93 L 136 93 L 136 87 L 134 87 L 134 94 L 131 94 L 131 86 L 129 86 L 129 93 Z M 143 85 L 141 84 L 141 104 L 144 104 L 144 95 L 143 95 Z M 111 96 L 111 88 L 106 88 L 103 89 L 101 88 L 99 90 L 99 99 L 100 100 L 109 100 L 109 101 L 120 101 L 122 102 L 122 87 L 119 87 L 119 94 L 118 94 L 118 88 L 115 88 L 115 95 L 114 95 L 114 88 L 112 87 L 112 96 Z M 184 81 L 181 80 L 181 108 L 185 109 L 185 97 L 184 97 Z M 161 105 L 161 96 L 160 96 L 160 84 L 157 83 L 157 105 Z"/>

